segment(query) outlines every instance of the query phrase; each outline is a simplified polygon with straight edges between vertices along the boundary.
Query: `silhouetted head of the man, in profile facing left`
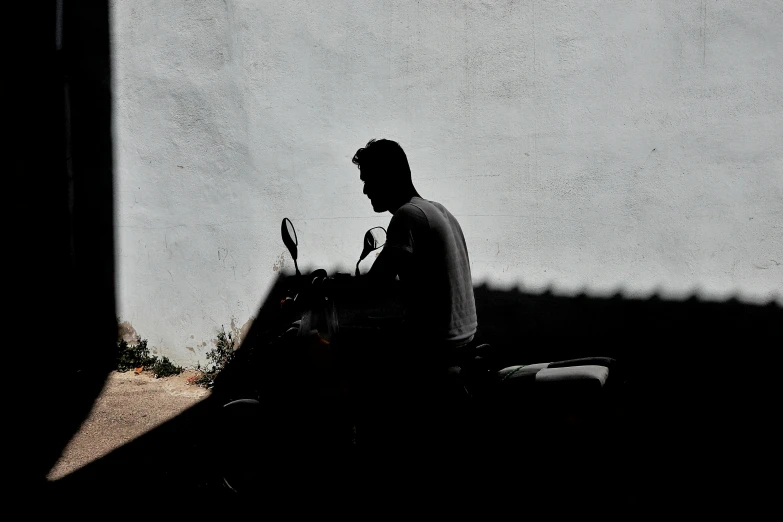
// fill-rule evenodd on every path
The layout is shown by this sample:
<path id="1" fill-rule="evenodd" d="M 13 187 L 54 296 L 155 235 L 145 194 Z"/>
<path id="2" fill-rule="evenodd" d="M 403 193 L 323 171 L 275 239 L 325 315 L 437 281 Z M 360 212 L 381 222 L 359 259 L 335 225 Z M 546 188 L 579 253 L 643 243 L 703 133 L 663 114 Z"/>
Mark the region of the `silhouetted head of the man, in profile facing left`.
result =
<path id="1" fill-rule="evenodd" d="M 396 141 L 370 140 L 356 151 L 352 161 L 359 167 L 364 194 L 376 212 L 394 212 L 406 199 L 418 195 L 408 157 Z"/>

